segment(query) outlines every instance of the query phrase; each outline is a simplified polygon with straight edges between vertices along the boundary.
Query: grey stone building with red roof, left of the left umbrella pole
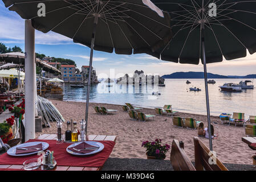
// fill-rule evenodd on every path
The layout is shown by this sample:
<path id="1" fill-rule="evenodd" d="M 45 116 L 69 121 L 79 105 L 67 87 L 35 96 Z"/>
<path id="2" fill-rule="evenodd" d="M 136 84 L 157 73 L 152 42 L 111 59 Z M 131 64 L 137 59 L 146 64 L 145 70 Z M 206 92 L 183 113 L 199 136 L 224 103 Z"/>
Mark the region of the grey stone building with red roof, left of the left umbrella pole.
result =
<path id="1" fill-rule="evenodd" d="M 83 75 L 76 70 L 75 65 L 62 64 L 60 71 L 62 72 L 62 80 L 64 82 L 83 83 Z"/>

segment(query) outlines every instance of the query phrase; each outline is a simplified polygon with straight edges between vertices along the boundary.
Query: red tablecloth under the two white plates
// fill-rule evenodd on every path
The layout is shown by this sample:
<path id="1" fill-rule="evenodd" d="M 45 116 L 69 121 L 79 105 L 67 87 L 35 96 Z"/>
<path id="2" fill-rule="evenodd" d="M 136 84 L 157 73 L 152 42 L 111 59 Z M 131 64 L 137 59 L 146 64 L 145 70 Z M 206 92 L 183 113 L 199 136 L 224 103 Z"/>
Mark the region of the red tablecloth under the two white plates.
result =
<path id="1" fill-rule="evenodd" d="M 78 167 L 101 167 L 111 154 L 115 142 L 112 141 L 95 141 L 104 144 L 104 149 L 96 154 L 78 156 L 71 155 L 66 151 L 66 148 L 71 143 L 56 144 L 56 140 L 38 140 L 33 139 L 28 142 L 47 142 L 49 147 L 47 150 L 54 151 L 54 158 L 57 166 L 78 166 Z M 29 156 L 10 156 L 7 153 L 0 155 L 0 165 L 22 165 L 28 159 L 39 158 L 38 155 Z"/>

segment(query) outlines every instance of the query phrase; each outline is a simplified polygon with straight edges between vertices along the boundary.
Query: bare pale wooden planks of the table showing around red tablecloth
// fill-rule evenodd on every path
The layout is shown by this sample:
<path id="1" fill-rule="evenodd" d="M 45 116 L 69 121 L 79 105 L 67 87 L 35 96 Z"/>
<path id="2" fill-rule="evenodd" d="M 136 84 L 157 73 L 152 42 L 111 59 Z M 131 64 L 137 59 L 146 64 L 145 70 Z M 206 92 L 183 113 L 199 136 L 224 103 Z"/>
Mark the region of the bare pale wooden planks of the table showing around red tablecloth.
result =
<path id="1" fill-rule="evenodd" d="M 43 140 L 53 140 L 56 139 L 56 134 L 43 134 L 35 139 L 43 139 Z M 87 135 L 88 140 L 97 140 L 97 141 L 113 141 L 116 142 L 116 136 L 113 135 Z M 99 171 L 101 167 L 75 167 L 75 166 L 57 166 L 55 171 Z M 22 165 L 0 165 L 0 168 L 9 168 L 9 169 L 22 169 Z M 40 168 L 36 169 L 36 171 L 40 171 Z"/>

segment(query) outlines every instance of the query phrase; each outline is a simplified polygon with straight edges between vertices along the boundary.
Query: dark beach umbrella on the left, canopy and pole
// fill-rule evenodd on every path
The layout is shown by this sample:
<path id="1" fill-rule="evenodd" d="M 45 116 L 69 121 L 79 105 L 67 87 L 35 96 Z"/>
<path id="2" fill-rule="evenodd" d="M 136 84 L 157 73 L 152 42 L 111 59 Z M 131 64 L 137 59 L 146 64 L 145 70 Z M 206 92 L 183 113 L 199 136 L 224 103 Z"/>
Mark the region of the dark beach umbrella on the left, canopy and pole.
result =
<path id="1" fill-rule="evenodd" d="M 54 31 L 91 48 L 86 123 L 94 49 L 117 54 L 155 53 L 172 33 L 169 14 L 149 0 L 3 0 L 9 10 L 31 19 L 39 31 Z M 40 5 L 39 5 L 40 3 Z M 42 7 L 42 13 L 39 9 Z M 45 7 L 43 9 L 43 7 Z M 40 13 L 41 12 L 41 13 Z M 39 16 L 40 15 L 40 16 Z M 86 129 L 87 130 L 87 129 Z"/>

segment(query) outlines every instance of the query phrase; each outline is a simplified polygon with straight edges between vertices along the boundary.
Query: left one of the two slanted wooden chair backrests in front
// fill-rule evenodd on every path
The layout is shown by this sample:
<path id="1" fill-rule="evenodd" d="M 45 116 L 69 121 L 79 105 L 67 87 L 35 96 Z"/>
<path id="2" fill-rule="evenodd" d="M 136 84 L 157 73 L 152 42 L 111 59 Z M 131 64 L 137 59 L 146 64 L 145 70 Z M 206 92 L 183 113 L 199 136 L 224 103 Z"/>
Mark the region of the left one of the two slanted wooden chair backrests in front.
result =
<path id="1" fill-rule="evenodd" d="M 196 171 L 184 151 L 183 142 L 174 139 L 172 142 L 172 151 L 170 151 L 170 163 L 174 171 Z"/>

